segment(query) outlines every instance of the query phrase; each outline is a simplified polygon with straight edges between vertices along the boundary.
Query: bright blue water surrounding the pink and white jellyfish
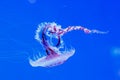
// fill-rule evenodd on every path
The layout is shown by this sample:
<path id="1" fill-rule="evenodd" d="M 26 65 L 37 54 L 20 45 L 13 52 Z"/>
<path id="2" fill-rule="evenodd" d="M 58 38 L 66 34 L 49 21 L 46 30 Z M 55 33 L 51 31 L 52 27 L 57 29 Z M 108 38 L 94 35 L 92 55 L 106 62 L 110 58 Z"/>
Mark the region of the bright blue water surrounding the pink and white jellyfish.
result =
<path id="1" fill-rule="evenodd" d="M 119 0 L 1 0 L 0 80 L 120 80 Z M 75 55 L 53 68 L 32 67 L 28 56 L 38 53 L 37 25 L 56 22 L 63 28 L 81 25 L 109 31 L 64 36 Z"/>

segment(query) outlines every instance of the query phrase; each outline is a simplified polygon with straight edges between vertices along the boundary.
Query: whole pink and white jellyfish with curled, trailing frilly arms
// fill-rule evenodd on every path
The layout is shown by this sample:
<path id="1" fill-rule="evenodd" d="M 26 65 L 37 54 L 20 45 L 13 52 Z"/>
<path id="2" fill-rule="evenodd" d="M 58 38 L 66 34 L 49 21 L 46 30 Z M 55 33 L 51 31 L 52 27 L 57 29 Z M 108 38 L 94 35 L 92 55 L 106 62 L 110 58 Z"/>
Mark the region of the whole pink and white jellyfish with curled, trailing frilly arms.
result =
<path id="1" fill-rule="evenodd" d="M 35 32 L 35 39 L 43 47 L 45 55 L 36 56 L 35 59 L 29 58 L 29 63 L 33 67 L 53 67 L 63 64 L 71 56 L 74 55 L 75 49 L 65 48 L 64 41 L 62 36 L 73 30 L 81 30 L 84 33 L 98 33 L 105 34 L 107 32 L 102 32 L 96 29 L 90 30 L 82 26 L 68 26 L 63 29 L 61 25 L 56 24 L 55 22 L 44 22 L 38 25 L 38 28 Z M 53 42 L 53 38 L 57 40 L 56 43 Z M 64 49 L 64 50 L 63 50 Z M 40 55 L 39 53 L 38 55 Z"/>

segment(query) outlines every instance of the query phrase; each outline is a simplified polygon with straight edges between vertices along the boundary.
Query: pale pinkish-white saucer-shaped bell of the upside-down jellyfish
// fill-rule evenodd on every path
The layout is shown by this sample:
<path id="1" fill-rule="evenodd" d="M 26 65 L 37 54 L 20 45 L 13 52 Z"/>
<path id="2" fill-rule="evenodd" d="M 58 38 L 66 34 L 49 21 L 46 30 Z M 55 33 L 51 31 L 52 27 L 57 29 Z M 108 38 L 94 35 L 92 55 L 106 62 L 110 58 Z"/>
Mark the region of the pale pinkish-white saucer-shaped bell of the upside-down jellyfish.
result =
<path id="1" fill-rule="evenodd" d="M 29 60 L 29 63 L 33 67 L 53 67 L 57 66 L 60 64 L 63 64 L 68 58 L 73 56 L 75 53 L 74 49 L 71 49 L 69 51 L 64 51 L 64 52 L 58 52 L 58 53 L 51 53 L 49 55 L 43 56 L 43 57 L 38 57 L 36 60 Z"/>

